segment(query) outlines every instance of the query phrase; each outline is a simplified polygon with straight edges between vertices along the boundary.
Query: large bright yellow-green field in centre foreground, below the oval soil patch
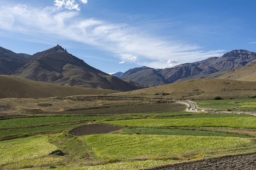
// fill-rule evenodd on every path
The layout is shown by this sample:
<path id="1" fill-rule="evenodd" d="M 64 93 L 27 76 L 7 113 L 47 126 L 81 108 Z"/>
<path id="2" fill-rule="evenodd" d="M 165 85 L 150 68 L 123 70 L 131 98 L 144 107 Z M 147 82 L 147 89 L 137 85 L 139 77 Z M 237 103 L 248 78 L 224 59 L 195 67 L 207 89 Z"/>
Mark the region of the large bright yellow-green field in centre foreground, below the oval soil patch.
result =
<path id="1" fill-rule="evenodd" d="M 85 144 L 97 159 L 128 159 L 136 157 L 163 156 L 185 152 L 232 148 L 251 144 L 239 137 L 195 137 L 171 135 L 90 135 Z"/>

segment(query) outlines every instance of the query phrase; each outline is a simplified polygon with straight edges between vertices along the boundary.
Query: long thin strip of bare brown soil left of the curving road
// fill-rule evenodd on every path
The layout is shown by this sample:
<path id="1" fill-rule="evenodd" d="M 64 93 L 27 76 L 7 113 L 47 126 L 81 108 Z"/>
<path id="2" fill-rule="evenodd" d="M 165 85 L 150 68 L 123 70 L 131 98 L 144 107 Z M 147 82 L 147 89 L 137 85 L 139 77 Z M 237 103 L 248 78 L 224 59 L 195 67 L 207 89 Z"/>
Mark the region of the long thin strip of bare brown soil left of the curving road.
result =
<path id="1" fill-rule="evenodd" d="M 131 113 L 177 112 L 186 108 L 179 103 L 145 104 L 133 106 L 119 106 L 87 110 L 51 112 L 51 114 L 77 114 L 77 115 L 117 115 Z"/>

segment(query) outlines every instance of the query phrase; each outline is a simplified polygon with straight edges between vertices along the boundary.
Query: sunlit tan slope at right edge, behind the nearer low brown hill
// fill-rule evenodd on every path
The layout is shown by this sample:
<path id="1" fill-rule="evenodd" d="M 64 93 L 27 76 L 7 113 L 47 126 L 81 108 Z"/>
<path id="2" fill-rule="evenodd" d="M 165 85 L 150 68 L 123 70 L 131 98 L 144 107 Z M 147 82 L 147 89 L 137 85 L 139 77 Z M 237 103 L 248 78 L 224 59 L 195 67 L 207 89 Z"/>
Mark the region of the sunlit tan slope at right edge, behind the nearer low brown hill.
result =
<path id="1" fill-rule="evenodd" d="M 226 74 L 218 77 L 230 80 L 256 81 L 256 62 L 243 67 L 229 70 Z"/>

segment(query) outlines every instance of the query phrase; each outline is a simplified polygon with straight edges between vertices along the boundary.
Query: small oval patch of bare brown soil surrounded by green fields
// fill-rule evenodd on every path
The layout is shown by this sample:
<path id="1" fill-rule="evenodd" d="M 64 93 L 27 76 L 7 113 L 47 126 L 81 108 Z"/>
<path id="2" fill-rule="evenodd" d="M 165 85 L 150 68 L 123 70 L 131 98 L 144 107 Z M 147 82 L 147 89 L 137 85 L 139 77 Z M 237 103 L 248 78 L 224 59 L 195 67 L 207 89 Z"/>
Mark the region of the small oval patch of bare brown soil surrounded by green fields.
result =
<path id="1" fill-rule="evenodd" d="M 96 135 L 96 134 L 110 133 L 120 129 L 124 129 L 124 127 L 112 126 L 107 124 L 90 124 L 90 125 L 77 127 L 69 131 L 69 134 L 75 135 L 75 136 Z"/>

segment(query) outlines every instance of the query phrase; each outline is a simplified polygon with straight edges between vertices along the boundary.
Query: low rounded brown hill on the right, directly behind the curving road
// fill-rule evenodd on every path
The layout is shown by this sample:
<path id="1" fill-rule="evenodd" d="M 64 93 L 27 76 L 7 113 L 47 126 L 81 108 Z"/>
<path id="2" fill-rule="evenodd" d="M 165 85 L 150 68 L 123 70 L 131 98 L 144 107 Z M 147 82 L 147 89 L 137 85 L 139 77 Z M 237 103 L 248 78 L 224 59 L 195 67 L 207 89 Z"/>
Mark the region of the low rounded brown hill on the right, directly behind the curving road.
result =
<path id="1" fill-rule="evenodd" d="M 118 94 L 173 100 L 213 100 L 216 96 L 223 99 L 249 98 L 256 95 L 256 82 L 201 78 Z"/>

